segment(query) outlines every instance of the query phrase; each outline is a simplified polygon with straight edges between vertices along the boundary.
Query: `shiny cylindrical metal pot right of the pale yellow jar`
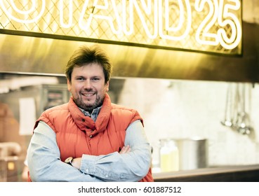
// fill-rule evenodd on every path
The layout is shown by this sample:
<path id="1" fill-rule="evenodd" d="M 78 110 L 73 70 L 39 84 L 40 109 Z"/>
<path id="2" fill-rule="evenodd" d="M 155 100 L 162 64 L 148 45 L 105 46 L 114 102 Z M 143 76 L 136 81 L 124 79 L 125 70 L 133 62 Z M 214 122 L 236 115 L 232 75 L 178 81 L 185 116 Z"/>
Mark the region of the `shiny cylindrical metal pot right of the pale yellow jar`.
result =
<path id="1" fill-rule="evenodd" d="M 188 138 L 177 139 L 179 151 L 179 169 L 199 169 L 207 167 L 207 139 Z"/>

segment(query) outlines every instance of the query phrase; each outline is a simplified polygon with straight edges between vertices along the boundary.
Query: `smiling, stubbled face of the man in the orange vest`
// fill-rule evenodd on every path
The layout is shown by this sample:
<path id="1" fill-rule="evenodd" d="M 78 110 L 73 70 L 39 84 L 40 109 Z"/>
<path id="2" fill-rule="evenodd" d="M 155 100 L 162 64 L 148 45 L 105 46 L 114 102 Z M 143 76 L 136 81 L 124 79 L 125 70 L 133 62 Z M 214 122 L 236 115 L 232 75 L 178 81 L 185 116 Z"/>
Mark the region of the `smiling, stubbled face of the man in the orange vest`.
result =
<path id="1" fill-rule="evenodd" d="M 92 111 L 102 104 L 105 93 L 109 90 L 109 81 L 105 84 L 105 74 L 99 64 L 75 66 L 67 88 L 72 93 L 74 102 L 81 109 Z"/>

